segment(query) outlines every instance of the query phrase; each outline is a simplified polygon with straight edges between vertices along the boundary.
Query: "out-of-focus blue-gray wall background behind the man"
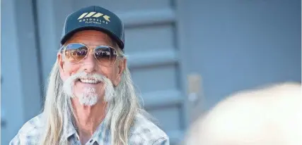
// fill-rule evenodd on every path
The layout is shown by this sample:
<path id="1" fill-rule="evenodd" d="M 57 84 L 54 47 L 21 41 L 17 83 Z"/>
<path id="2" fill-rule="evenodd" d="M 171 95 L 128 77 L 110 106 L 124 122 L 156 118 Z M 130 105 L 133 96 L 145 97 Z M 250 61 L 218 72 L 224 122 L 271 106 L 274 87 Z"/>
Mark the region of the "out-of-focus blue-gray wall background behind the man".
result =
<path id="1" fill-rule="evenodd" d="M 171 144 L 228 94 L 301 82 L 300 0 L 2 0 L 1 144 L 40 113 L 64 19 L 89 5 L 124 21 L 134 83 Z"/>

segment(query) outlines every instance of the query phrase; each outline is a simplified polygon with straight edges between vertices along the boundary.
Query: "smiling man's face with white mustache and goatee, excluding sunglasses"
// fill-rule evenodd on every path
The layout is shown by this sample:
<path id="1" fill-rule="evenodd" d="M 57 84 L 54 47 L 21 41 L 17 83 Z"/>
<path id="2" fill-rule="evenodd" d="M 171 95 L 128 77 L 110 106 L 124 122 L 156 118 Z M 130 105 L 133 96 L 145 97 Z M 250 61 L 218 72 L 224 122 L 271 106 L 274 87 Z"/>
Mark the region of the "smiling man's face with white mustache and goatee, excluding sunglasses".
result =
<path id="1" fill-rule="evenodd" d="M 91 50 L 86 49 L 86 51 L 88 50 L 86 57 L 76 63 L 74 58 L 79 58 L 79 51 L 76 56 L 74 54 L 70 55 L 66 51 L 58 53 L 60 75 L 64 81 L 64 91 L 71 97 L 76 96 L 75 98 L 79 99 L 81 104 L 93 106 L 98 101 L 103 100 L 100 97 L 114 91 L 112 90 L 112 84 L 117 86 L 120 83 L 120 77 L 126 61 L 111 56 L 110 62 L 112 62 L 112 65 L 108 65 L 108 61 L 105 62 L 103 61 L 105 59 L 98 58 L 99 56 L 103 57 L 103 55 L 96 54 L 97 57 L 95 57 L 93 52 L 95 47 L 111 46 L 115 48 L 110 37 L 103 32 L 94 30 L 77 32 L 64 46 L 74 43 L 84 44 Z M 104 53 L 104 51 L 99 52 Z M 108 81 L 103 81 L 102 78 Z"/>

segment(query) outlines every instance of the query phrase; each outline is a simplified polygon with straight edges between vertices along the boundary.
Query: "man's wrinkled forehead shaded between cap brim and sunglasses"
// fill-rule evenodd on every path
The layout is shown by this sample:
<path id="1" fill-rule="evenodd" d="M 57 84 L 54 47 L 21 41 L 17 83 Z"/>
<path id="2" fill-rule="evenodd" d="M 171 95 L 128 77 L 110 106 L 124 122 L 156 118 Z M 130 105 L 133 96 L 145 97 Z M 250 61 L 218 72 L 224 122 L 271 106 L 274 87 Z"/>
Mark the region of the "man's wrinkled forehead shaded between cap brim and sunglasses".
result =
<path id="1" fill-rule="evenodd" d="M 66 44 L 70 43 L 81 43 L 91 46 L 108 45 L 112 46 L 112 39 L 104 32 L 96 30 L 83 30 L 76 32 Z"/>

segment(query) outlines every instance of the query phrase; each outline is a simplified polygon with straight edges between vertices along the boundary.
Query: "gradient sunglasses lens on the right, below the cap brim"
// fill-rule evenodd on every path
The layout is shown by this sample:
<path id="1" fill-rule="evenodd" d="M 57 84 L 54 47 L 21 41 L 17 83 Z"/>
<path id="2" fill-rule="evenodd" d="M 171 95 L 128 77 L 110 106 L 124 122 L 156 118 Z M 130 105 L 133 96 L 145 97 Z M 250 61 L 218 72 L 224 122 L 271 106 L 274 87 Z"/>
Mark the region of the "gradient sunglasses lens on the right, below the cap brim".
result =
<path id="1" fill-rule="evenodd" d="M 97 46 L 94 49 L 95 58 L 101 65 L 111 66 L 117 58 L 117 51 L 110 46 Z"/>

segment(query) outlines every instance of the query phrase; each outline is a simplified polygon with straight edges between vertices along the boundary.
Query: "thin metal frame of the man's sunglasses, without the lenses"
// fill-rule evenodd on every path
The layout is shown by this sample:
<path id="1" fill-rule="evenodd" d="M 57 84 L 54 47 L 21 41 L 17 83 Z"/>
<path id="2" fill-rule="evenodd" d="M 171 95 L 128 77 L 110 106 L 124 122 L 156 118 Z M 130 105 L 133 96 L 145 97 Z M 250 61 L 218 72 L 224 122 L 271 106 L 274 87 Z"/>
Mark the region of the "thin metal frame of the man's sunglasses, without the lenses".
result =
<path id="1" fill-rule="evenodd" d="M 81 45 L 83 45 L 83 46 L 86 46 L 86 48 L 88 49 L 88 53 L 86 54 L 86 56 L 85 56 L 83 59 L 81 59 L 81 61 L 83 61 L 84 59 L 86 59 L 86 58 L 88 57 L 89 50 L 90 50 L 91 48 L 89 48 L 86 44 L 82 44 L 82 43 L 70 43 L 70 44 L 81 44 Z M 63 46 L 60 48 L 60 53 L 62 53 L 62 54 L 64 55 L 64 57 L 66 57 L 66 56 L 65 56 L 65 53 L 66 53 L 66 46 L 69 46 L 70 44 L 63 45 Z M 98 48 L 98 47 L 100 47 L 100 46 L 109 47 L 110 49 L 115 50 L 116 55 L 117 55 L 117 56 L 116 56 L 117 58 L 124 58 L 124 55 L 123 55 L 122 53 L 119 53 L 119 52 L 118 52 L 115 48 L 113 48 L 112 46 L 108 46 L 108 45 L 98 45 L 98 46 L 95 46 L 95 47 L 92 49 L 92 51 L 93 51 L 93 57 L 96 59 L 96 61 L 98 61 L 98 59 L 97 59 L 96 56 L 95 56 L 95 49 Z M 115 59 L 115 62 L 117 61 L 117 58 Z M 79 62 L 77 62 L 77 63 L 81 63 L 81 61 L 79 61 Z M 103 65 L 103 66 L 105 66 L 105 67 L 111 67 L 113 64 L 115 64 L 115 62 L 112 63 L 110 66 L 105 66 L 105 65 Z M 72 63 L 72 64 L 77 64 L 77 63 Z M 100 61 L 98 61 L 98 63 L 100 63 Z M 102 63 L 100 63 L 100 65 L 102 65 Z"/>

